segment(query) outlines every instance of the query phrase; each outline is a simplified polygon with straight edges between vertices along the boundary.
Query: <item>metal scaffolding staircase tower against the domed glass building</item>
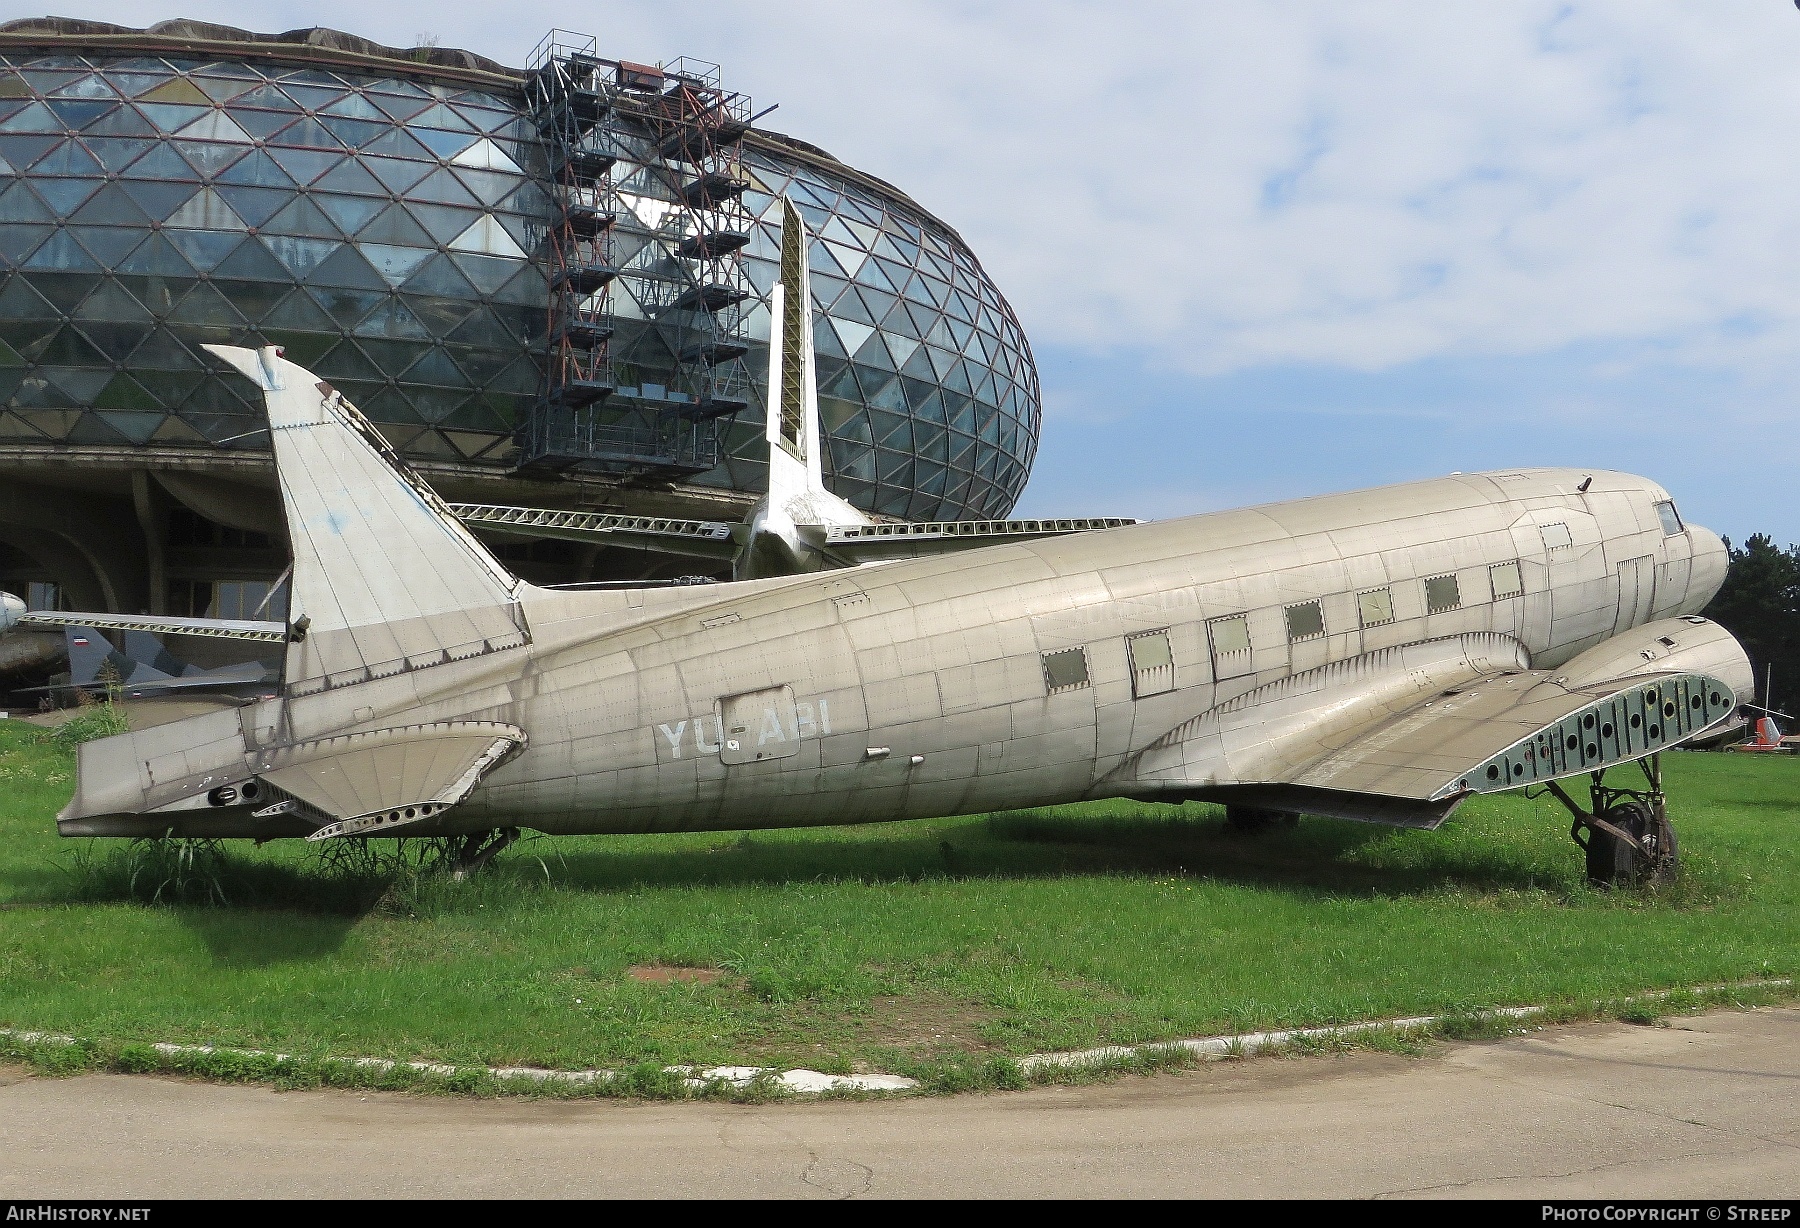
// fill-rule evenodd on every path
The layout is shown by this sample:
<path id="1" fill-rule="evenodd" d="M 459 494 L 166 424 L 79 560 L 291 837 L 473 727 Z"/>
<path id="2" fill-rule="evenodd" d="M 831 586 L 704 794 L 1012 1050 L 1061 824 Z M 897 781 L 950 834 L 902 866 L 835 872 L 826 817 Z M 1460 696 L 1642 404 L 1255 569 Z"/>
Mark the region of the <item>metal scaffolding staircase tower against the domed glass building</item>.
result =
<path id="1" fill-rule="evenodd" d="M 648 481 L 715 468 L 720 421 L 751 400 L 749 97 L 718 65 L 607 59 L 569 31 L 538 43 L 526 94 L 558 212 L 520 466 Z"/>

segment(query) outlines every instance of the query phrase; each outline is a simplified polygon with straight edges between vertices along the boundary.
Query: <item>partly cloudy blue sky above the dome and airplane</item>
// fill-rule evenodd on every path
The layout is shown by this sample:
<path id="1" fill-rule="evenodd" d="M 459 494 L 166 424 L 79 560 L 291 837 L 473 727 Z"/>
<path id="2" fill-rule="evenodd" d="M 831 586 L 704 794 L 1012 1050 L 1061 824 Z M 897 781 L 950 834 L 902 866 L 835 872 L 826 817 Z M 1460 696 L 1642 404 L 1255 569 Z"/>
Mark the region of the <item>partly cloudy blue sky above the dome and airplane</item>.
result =
<path id="1" fill-rule="evenodd" d="M 1793 0 L 56 9 L 720 63 L 1013 304 L 1044 389 L 1019 515 L 1571 465 L 1800 540 Z"/>

